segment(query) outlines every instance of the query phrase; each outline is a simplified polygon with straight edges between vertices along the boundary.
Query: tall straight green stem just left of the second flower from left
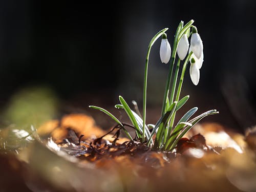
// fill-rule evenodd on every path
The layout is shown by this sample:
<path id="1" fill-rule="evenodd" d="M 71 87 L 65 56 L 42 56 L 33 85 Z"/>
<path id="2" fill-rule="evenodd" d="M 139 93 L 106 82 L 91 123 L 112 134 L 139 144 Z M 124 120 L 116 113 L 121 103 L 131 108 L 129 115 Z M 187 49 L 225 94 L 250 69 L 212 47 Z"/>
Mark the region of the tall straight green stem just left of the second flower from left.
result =
<path id="1" fill-rule="evenodd" d="M 174 39 L 174 44 L 173 44 L 173 52 L 172 52 L 172 56 L 170 57 L 169 73 L 168 73 L 168 77 L 167 77 L 166 84 L 165 84 L 165 91 L 164 91 L 164 98 L 163 98 L 163 106 L 162 106 L 161 116 L 163 116 L 164 113 L 165 113 L 165 105 L 166 105 L 167 97 L 169 95 L 170 81 L 172 80 L 174 62 L 175 62 L 175 57 L 176 57 L 176 52 L 177 52 L 177 45 L 178 45 L 177 40 L 178 40 L 178 36 L 179 36 L 178 34 L 181 31 L 182 26 L 183 26 L 183 21 L 180 22 L 180 24 L 179 24 L 179 26 L 176 30 L 176 33 L 175 33 L 175 39 Z"/>

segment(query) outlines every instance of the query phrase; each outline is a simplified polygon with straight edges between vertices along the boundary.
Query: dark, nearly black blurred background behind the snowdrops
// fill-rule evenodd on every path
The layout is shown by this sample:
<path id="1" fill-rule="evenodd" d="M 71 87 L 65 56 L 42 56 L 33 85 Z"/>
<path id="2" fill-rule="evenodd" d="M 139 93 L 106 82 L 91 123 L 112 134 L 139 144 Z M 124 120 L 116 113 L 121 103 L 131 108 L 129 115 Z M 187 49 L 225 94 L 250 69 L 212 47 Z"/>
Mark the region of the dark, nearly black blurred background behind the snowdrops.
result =
<path id="1" fill-rule="evenodd" d="M 170 44 L 180 20 L 195 20 L 203 39 L 200 82 L 185 76 L 184 107 L 243 131 L 256 124 L 256 2 L 228 1 L 0 1 L 0 102 L 27 87 L 47 87 L 61 100 L 60 112 L 87 112 L 89 104 L 110 107 L 122 95 L 142 107 L 148 42 L 168 27 Z M 159 118 L 168 65 L 154 45 L 148 75 L 148 123 Z M 117 113 L 118 114 L 118 113 Z M 180 114 L 182 115 L 182 114 Z M 97 119 L 98 118 L 98 119 Z M 107 117 L 105 117 L 107 119 Z M 108 120 L 102 120 L 107 122 Z M 103 127 L 109 125 L 99 122 Z"/>

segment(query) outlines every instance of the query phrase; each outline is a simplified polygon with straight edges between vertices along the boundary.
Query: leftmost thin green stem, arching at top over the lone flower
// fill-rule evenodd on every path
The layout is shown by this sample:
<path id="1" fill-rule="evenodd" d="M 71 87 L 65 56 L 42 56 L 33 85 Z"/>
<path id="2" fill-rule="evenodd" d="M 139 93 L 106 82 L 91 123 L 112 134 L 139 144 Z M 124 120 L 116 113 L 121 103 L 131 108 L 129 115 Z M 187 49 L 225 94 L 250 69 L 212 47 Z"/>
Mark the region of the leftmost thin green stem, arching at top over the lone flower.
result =
<path id="1" fill-rule="evenodd" d="M 148 59 L 150 58 L 150 51 L 152 46 L 154 45 L 155 41 L 165 32 L 168 28 L 162 29 L 159 31 L 150 41 L 147 49 L 146 55 L 146 64 L 145 64 L 145 72 L 144 72 L 144 87 L 143 87 L 143 129 L 142 129 L 142 142 L 145 139 L 145 123 L 146 123 L 146 88 L 147 88 L 147 69 L 148 69 Z"/>

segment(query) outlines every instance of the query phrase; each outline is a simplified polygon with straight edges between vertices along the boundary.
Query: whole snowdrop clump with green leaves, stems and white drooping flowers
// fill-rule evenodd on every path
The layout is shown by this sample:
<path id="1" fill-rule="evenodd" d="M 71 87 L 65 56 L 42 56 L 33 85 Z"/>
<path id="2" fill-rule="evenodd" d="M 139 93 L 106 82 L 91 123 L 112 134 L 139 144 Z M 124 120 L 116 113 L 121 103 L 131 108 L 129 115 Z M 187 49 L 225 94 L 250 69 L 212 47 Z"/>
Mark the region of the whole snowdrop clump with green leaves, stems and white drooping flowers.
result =
<path id="1" fill-rule="evenodd" d="M 183 26 L 183 21 L 180 22 L 174 38 L 173 50 L 171 50 L 169 42 L 167 40 L 167 35 L 165 32 L 168 28 L 159 31 L 150 41 L 148 46 L 148 51 L 146 55 L 145 72 L 144 72 L 144 89 L 143 89 L 143 113 L 142 117 L 139 112 L 134 112 L 131 110 L 130 106 L 119 96 L 120 104 L 116 104 L 115 107 L 118 109 L 123 109 L 132 121 L 133 127 L 136 131 L 136 139 L 142 143 L 146 143 L 147 146 L 153 147 L 155 150 L 161 151 L 173 151 L 177 146 L 179 140 L 201 119 L 206 116 L 214 115 L 219 113 L 217 110 L 207 111 L 193 119 L 190 119 L 196 111 L 197 107 L 190 109 L 184 114 L 184 116 L 175 125 L 176 112 L 181 109 L 181 107 L 187 102 L 189 95 L 180 99 L 180 92 L 182 88 L 182 83 L 185 75 L 185 71 L 190 62 L 189 74 L 192 82 L 197 85 L 200 78 L 200 69 L 203 63 L 203 44 L 200 35 L 198 34 L 197 28 L 193 26 L 194 20 L 190 20 L 186 25 Z M 191 29 L 191 32 L 190 32 Z M 146 90 L 147 90 L 147 69 L 148 60 L 150 57 L 150 51 L 155 41 L 162 36 L 161 46 L 160 46 L 160 58 L 163 63 L 170 62 L 169 73 L 166 80 L 162 112 L 160 119 L 155 124 L 146 125 Z M 190 39 L 190 46 L 188 38 Z M 188 53 L 188 54 L 187 54 Z M 178 54 L 178 59 L 176 59 L 176 54 Z M 186 59 L 185 59 L 186 58 Z M 185 59 L 185 60 L 184 60 Z M 181 60 L 184 60 L 182 72 L 179 76 L 179 68 Z M 175 65 L 176 61 L 176 65 Z M 174 70 L 174 66 L 176 66 Z M 174 76 L 173 76 L 174 74 Z M 173 78 L 172 78 L 173 76 Z M 172 82 L 172 87 L 170 86 Z M 178 83 L 178 89 L 176 90 L 176 85 Z M 171 89 L 170 89 L 171 88 Z M 176 93 L 176 97 L 175 96 Z M 136 102 L 134 102 L 136 105 Z M 89 106 L 90 108 L 100 110 L 105 114 L 109 115 L 113 120 L 115 120 L 127 137 L 131 140 L 133 138 L 126 131 L 125 125 L 121 123 L 113 114 L 102 109 L 98 106 Z M 189 120 L 190 119 L 190 120 Z M 153 136 L 156 136 L 153 139 Z"/>

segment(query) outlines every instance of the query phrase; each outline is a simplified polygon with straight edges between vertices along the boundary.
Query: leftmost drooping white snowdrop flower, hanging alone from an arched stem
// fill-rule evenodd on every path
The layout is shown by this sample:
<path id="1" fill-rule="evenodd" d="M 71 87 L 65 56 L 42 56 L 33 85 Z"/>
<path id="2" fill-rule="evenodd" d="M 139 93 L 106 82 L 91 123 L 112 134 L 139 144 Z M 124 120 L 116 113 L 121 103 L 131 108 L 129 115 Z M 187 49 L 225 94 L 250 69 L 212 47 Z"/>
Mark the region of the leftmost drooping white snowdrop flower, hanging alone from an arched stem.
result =
<path id="1" fill-rule="evenodd" d="M 163 33 L 162 35 L 162 41 L 160 45 L 160 59 L 164 63 L 168 63 L 170 60 L 170 54 L 171 54 L 170 44 L 167 40 L 167 35 Z"/>

